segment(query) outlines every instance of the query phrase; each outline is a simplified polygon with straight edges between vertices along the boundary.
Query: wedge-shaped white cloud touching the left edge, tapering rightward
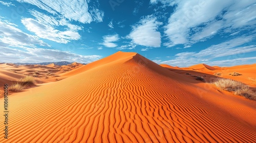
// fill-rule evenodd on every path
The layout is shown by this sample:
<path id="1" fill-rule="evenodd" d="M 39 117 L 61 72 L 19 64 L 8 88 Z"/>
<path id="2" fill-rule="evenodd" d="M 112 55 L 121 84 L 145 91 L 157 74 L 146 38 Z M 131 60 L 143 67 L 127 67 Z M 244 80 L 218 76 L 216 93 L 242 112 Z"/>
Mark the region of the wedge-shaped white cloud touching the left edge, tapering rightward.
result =
<path id="1" fill-rule="evenodd" d="M 0 45 L 2 46 L 50 46 L 37 36 L 29 35 L 18 29 L 14 23 L 0 18 Z"/>

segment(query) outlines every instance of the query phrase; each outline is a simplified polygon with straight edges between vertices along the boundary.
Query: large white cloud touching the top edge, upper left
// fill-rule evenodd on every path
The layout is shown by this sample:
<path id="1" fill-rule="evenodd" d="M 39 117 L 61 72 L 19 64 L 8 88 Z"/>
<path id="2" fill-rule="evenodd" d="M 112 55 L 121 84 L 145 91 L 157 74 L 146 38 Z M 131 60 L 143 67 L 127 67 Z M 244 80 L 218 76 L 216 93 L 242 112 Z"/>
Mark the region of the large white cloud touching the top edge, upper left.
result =
<path id="1" fill-rule="evenodd" d="M 90 1 L 33 1 L 33 0 L 17 0 L 20 3 L 29 3 L 40 9 L 46 10 L 53 15 L 61 15 L 69 20 L 76 20 L 82 23 L 90 23 L 92 21 L 101 22 L 103 19 L 103 11 L 94 6 L 88 6 Z"/>

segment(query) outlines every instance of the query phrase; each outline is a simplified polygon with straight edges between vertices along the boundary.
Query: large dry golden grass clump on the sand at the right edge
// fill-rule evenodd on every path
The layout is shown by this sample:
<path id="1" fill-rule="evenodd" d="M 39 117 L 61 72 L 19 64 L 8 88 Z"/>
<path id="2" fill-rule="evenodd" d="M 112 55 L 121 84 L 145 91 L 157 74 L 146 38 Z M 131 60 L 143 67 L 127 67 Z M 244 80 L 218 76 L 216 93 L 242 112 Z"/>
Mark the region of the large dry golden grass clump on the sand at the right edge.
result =
<path id="1" fill-rule="evenodd" d="M 249 86 L 230 79 L 217 79 L 214 84 L 222 90 L 234 92 L 235 95 L 243 96 L 250 100 L 256 100 L 256 94 L 250 90 Z"/>

